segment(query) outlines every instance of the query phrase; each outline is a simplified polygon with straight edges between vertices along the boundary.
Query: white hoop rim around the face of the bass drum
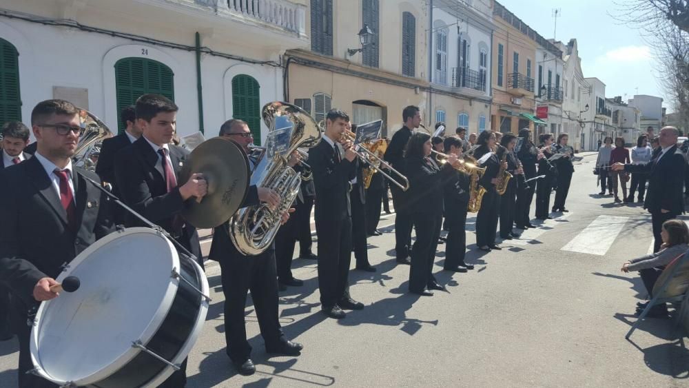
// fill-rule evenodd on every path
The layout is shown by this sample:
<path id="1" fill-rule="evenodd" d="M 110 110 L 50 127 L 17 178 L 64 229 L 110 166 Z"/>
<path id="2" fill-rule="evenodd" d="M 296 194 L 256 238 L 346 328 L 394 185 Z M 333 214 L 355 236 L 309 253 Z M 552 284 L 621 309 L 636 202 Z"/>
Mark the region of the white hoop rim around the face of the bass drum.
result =
<path id="1" fill-rule="evenodd" d="M 131 234 L 154 234 L 160 238 L 163 238 L 167 243 L 170 252 L 172 252 L 172 266 L 179 269 L 180 258 L 177 249 L 174 247 L 174 245 L 172 245 L 172 242 L 170 242 L 169 239 L 167 239 L 163 234 L 161 234 L 161 232 L 158 232 L 155 229 L 151 229 L 149 227 L 130 227 L 126 229 L 119 229 L 116 232 L 112 232 L 107 236 L 103 236 L 103 238 L 100 238 L 95 243 L 89 245 L 79 255 L 77 255 L 74 258 L 74 260 L 72 260 L 69 263 L 68 267 L 66 267 L 65 270 L 63 270 L 63 272 L 61 272 L 61 274 L 57 276 L 55 280 L 61 282 L 61 280 L 63 280 L 67 276 L 70 276 L 74 268 L 78 267 L 78 265 L 81 264 L 81 262 L 83 262 L 85 258 L 90 256 L 90 254 L 96 252 L 96 250 L 101 248 L 103 245 L 106 245 L 107 243 L 110 243 L 116 239 L 123 238 L 124 236 L 128 236 Z M 170 268 L 170 271 L 172 271 L 172 268 Z M 172 307 L 172 301 L 174 300 L 174 297 L 177 293 L 179 281 L 180 280 L 172 278 L 172 276 L 170 276 L 170 282 L 167 285 L 167 290 L 165 291 L 165 296 L 163 297 L 163 303 L 161 303 L 161 305 L 156 310 L 155 314 L 153 314 L 150 323 L 144 329 L 143 333 L 139 336 L 139 338 L 132 338 L 132 341 L 141 340 L 141 343 L 146 344 L 148 343 L 148 341 L 151 340 L 151 338 L 156 334 L 156 332 L 158 332 L 158 329 L 160 329 L 163 321 L 165 320 L 165 317 L 167 317 L 167 314 L 169 314 L 169 309 Z M 127 363 L 129 363 L 134 357 L 136 357 L 139 354 L 139 352 L 141 352 L 141 349 L 131 347 L 130 349 L 127 349 L 127 351 L 125 351 L 125 353 L 122 356 L 114 359 L 110 365 L 107 365 L 107 367 L 99 371 L 96 371 L 95 373 L 90 374 L 88 376 L 84 376 L 79 380 L 63 381 L 55 379 L 53 376 L 48 374 L 47 371 L 45 371 L 45 369 L 43 369 L 43 365 L 42 363 L 40 363 L 41 358 L 38 350 L 38 328 L 41 327 L 41 318 L 43 316 L 43 313 L 45 312 L 45 309 L 50 307 L 51 302 L 52 300 L 48 300 L 47 302 L 41 303 L 41 305 L 39 306 L 39 309 L 36 313 L 36 317 L 34 318 L 34 325 L 31 329 L 29 343 L 31 361 L 34 365 L 34 368 L 36 368 L 37 374 L 40 374 L 41 377 L 45 378 L 46 380 L 50 380 L 52 382 L 55 382 L 56 384 L 66 384 L 68 382 L 72 382 L 80 386 L 93 384 L 94 382 L 99 382 L 101 380 L 104 380 L 108 376 L 111 376 L 112 374 L 114 374 L 115 371 L 118 371 L 121 367 L 127 365 Z"/>

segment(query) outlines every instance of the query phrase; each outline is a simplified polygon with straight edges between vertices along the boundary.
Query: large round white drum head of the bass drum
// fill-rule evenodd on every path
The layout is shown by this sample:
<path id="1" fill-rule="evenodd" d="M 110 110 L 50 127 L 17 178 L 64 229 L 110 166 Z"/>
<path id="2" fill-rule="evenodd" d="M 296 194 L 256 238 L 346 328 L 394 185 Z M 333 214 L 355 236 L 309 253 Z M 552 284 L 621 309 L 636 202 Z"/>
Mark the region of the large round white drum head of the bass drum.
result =
<path id="1" fill-rule="evenodd" d="M 42 303 L 31 333 L 39 373 L 57 384 L 88 385 L 136 354 L 132 342 L 155 334 L 172 305 L 179 269 L 172 243 L 152 229 L 112 233 L 76 256 L 56 280 L 76 276 L 76 292 Z"/>

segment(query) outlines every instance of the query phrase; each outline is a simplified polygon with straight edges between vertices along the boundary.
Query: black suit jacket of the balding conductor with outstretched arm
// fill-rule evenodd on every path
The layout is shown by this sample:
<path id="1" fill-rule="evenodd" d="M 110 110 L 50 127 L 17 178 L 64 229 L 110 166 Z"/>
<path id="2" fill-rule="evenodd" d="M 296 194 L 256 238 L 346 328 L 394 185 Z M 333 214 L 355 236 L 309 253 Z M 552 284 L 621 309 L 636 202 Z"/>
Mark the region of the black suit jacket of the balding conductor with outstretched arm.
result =
<path id="1" fill-rule="evenodd" d="M 644 207 L 649 212 L 669 210 L 672 214 L 684 212 L 683 187 L 686 160 L 677 145 L 673 145 L 658 160 L 661 152 L 654 152 L 653 159 L 646 164 L 624 165 L 626 172 L 643 172 L 649 175 L 648 191 Z"/>

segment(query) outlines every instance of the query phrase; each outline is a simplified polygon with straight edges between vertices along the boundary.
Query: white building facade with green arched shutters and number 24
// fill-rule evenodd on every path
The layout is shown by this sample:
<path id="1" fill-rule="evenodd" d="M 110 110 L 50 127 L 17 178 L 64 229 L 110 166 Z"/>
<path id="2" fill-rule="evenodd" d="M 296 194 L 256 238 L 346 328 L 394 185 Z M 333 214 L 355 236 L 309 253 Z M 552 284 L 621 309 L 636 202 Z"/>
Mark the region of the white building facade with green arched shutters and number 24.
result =
<path id="1" fill-rule="evenodd" d="M 180 136 L 216 136 L 234 117 L 260 143 L 260 108 L 283 95 L 282 52 L 309 43 L 300 0 L 9 0 L 3 8 L 0 43 L 14 50 L 1 55 L 17 63 L 17 109 L 0 121 L 26 124 L 36 103 L 61 98 L 116 132 L 119 110 L 155 92 L 179 106 Z"/>

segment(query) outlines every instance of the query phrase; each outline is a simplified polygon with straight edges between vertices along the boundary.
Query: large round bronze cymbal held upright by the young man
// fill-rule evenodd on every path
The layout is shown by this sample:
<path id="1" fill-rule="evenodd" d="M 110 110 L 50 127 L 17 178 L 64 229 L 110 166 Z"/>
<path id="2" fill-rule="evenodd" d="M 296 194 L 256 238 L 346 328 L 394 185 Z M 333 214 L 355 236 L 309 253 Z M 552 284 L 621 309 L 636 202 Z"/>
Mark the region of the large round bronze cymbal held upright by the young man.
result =
<path id="1" fill-rule="evenodd" d="M 232 140 L 216 137 L 204 141 L 189 155 L 180 181 L 200 172 L 208 182 L 208 194 L 186 201 L 182 216 L 198 228 L 217 227 L 239 210 L 249 191 L 249 158 Z"/>

